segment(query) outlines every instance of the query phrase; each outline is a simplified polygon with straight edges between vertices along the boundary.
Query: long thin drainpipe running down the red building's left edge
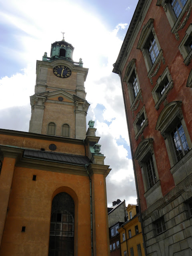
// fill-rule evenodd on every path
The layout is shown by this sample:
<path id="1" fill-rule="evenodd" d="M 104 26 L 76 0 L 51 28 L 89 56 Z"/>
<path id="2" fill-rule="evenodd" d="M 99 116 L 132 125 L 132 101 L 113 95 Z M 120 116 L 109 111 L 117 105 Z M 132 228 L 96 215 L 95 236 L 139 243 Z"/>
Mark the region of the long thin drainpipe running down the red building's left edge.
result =
<path id="1" fill-rule="evenodd" d="M 116 69 L 116 70 L 117 70 L 117 69 Z M 126 114 L 127 128 L 128 128 L 129 141 L 130 141 L 131 157 L 132 157 L 133 170 L 134 170 L 134 176 L 135 176 L 136 192 L 137 192 L 137 197 L 138 197 L 137 202 L 138 202 L 138 206 L 139 206 L 140 222 L 141 222 L 141 229 L 142 229 L 142 236 L 143 236 L 143 245 L 144 245 L 145 255 L 147 256 L 147 249 L 146 249 L 146 242 L 145 242 L 145 235 L 144 235 L 144 227 L 143 227 L 143 219 L 142 219 L 142 213 L 141 213 L 141 204 L 140 204 L 140 197 L 139 197 L 139 189 L 138 189 L 138 183 L 137 183 L 137 176 L 136 176 L 136 168 L 135 168 L 135 162 L 134 162 L 134 155 L 133 155 L 131 134 L 130 134 L 130 129 L 129 129 L 128 116 L 127 116 L 127 107 L 126 107 L 126 104 L 125 104 L 125 96 L 124 96 L 124 89 L 123 89 L 123 81 L 122 81 L 122 77 L 121 77 L 121 71 L 120 71 L 120 70 L 117 70 L 117 71 L 119 72 L 119 76 L 120 76 L 120 80 L 121 80 L 123 101 L 124 101 L 124 106 L 125 106 L 125 114 Z"/>

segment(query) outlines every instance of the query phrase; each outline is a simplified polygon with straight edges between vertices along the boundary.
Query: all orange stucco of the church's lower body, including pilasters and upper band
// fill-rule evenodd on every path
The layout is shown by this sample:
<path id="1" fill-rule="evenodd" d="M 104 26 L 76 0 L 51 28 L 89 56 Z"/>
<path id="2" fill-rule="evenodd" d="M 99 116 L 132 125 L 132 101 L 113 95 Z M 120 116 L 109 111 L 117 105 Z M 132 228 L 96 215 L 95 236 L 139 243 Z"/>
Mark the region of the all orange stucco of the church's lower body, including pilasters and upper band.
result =
<path id="1" fill-rule="evenodd" d="M 0 238 L 2 238 L 0 240 L 0 255 L 47 256 L 52 199 L 56 194 L 66 192 L 70 194 L 75 204 L 74 256 L 90 256 L 90 179 L 85 167 L 74 166 L 76 169 L 73 172 L 71 164 L 59 163 L 60 169 L 58 170 L 57 163 L 54 165 L 52 162 L 52 165 L 49 166 L 50 162 L 46 163 L 43 160 L 26 158 L 24 162 L 20 160 L 22 159 L 22 148 L 36 150 L 45 148 L 46 151 L 50 151 L 48 146 L 54 143 L 57 146 L 55 152 L 82 156 L 88 152 L 88 148 L 85 150 L 81 140 L 63 139 L 56 136 L 53 137 L 53 140 L 43 140 L 45 135 L 15 132 L 14 136 L 14 131 L 8 131 L 13 135 L 4 134 L 4 132 L 5 130 L 2 132 L 3 134 L 0 133 L 0 150 L 3 153 L 1 154 L 3 164 L 0 174 Z M 18 136 L 18 134 L 25 136 Z M 48 136 L 46 137 L 48 138 Z M 54 170 L 54 166 L 56 170 Z M 93 193 L 94 255 L 106 256 L 109 253 L 106 166 L 103 167 L 103 174 L 101 174 L 102 165 L 99 165 L 99 171 L 97 164 L 90 166 Z M 35 181 L 32 180 L 33 175 L 36 175 Z M 25 232 L 21 232 L 22 226 L 26 227 Z"/>

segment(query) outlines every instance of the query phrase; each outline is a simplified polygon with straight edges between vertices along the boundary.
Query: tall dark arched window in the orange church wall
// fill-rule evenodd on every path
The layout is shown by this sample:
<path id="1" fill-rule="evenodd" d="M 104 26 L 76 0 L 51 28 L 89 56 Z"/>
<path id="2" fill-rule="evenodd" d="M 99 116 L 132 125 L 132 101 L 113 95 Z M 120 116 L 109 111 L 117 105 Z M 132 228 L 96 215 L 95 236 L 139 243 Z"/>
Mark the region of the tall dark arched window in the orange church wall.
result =
<path id="1" fill-rule="evenodd" d="M 74 255 L 74 201 L 67 193 L 52 201 L 48 256 Z"/>

